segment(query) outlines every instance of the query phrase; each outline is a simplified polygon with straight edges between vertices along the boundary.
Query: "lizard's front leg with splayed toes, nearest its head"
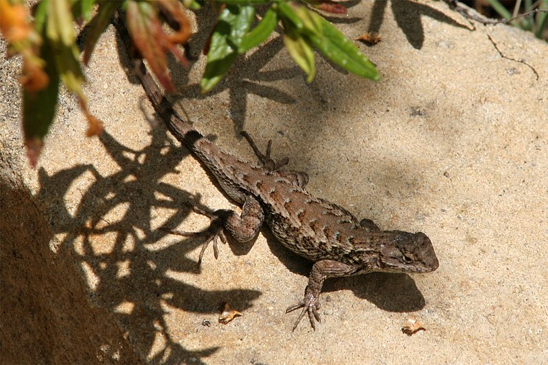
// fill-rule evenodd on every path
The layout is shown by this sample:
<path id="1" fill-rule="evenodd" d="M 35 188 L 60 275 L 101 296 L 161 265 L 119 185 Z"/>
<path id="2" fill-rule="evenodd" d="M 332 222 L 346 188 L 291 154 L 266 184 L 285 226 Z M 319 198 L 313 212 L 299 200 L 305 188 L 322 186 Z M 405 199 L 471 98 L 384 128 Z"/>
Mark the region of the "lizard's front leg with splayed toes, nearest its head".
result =
<path id="1" fill-rule="evenodd" d="M 358 268 L 356 265 L 348 265 L 335 260 L 321 260 L 314 263 L 314 266 L 312 266 L 312 272 L 308 277 L 308 285 L 304 290 L 303 300 L 286 309 L 286 313 L 288 313 L 299 308 L 303 308 L 301 314 L 299 314 L 299 317 L 295 321 L 293 331 L 295 331 L 297 325 L 299 325 L 299 322 L 307 313 L 308 318 L 310 319 L 310 325 L 312 325 L 313 329 L 316 329 L 315 320 L 321 322 L 320 314 L 318 313 L 318 310 L 320 309 L 319 296 L 321 287 L 323 286 L 323 281 L 325 281 L 325 279 L 329 277 L 352 275 L 353 273 L 356 273 L 357 270 Z"/>

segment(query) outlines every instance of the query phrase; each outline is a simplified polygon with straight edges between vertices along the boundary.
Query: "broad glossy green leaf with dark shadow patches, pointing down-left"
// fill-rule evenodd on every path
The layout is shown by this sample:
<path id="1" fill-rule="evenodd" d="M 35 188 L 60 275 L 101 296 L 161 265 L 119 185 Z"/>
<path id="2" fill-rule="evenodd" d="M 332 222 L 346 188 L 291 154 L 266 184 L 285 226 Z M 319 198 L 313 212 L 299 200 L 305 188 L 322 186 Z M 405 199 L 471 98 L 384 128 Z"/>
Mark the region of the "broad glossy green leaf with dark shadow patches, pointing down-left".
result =
<path id="1" fill-rule="evenodd" d="M 221 12 L 211 36 L 208 63 L 200 81 L 201 92 L 210 91 L 232 66 L 254 15 L 255 8 L 251 5 L 227 5 Z"/>

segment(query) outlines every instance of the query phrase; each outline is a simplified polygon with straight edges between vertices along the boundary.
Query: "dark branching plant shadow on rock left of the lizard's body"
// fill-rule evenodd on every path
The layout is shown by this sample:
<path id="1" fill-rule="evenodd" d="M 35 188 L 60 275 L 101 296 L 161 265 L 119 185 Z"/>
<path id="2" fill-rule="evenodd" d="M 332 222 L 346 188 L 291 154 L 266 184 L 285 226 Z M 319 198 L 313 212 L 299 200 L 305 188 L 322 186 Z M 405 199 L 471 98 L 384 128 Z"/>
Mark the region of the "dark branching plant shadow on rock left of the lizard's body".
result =
<path id="1" fill-rule="evenodd" d="M 166 275 L 199 273 L 187 254 L 203 242 L 203 236 L 158 243 L 169 235 L 162 227 L 177 227 L 190 214 L 189 202 L 199 203 L 199 196 L 161 181 L 175 172 L 188 152 L 167 138 L 161 127 L 152 129 L 151 144 L 139 151 L 125 147 L 107 131 L 100 140 L 118 171 L 103 176 L 93 165 L 78 165 L 53 175 L 43 168 L 38 172 L 36 198 L 58 235 L 58 252 L 66 250 L 75 257 L 92 301 L 116 316 L 134 347 L 147 351 L 142 353 L 148 355 L 147 361 L 179 363 L 211 355 L 217 347 L 188 351 L 171 338 L 164 319 L 166 307 L 217 313 L 220 303 L 227 301 L 245 310 L 260 292 L 207 291 Z M 75 187 L 79 190 L 81 179 L 92 183 L 70 207 L 64 197 Z M 169 213 L 157 214 L 158 209 Z M 151 224 L 158 221 L 157 215 L 167 218 L 160 225 Z M 163 336 L 164 346 L 149 355 L 158 346 L 158 335 Z"/>

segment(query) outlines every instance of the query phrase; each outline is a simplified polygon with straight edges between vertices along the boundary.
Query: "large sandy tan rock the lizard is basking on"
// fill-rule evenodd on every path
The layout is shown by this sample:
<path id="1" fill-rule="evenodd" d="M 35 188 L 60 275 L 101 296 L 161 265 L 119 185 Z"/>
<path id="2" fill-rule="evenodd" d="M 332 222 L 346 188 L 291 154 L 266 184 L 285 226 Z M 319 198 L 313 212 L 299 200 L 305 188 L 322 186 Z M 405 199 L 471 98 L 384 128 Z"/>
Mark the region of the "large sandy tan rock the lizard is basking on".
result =
<path id="1" fill-rule="evenodd" d="M 198 16 L 194 55 L 213 23 Z M 234 204 L 153 121 L 110 29 L 86 88 L 105 133 L 86 139 L 77 103 L 62 95 L 36 171 L 21 147 L 16 62 L 0 62 L 2 362 L 137 361 L 124 338 L 148 362 L 548 359 L 547 43 L 430 1 L 364 1 L 335 21 L 350 37 L 379 31 L 381 43 L 360 47 L 382 81 L 319 57 L 308 85 L 273 38 L 210 95 L 197 92 L 203 58 L 188 72 L 175 66 L 173 102 L 227 151 L 254 161 L 235 132 L 244 127 L 261 145 L 273 139 L 316 195 L 384 229 L 425 232 L 440 268 L 327 281 L 318 330 L 303 321 L 295 333 L 297 314 L 284 309 L 311 264 L 267 229 L 253 244 L 221 245 L 219 260 L 210 249 L 197 268 L 201 241 L 158 227 L 207 227 L 186 201 Z M 221 325 L 225 301 L 243 316 Z M 401 332 L 411 313 L 427 331 Z"/>

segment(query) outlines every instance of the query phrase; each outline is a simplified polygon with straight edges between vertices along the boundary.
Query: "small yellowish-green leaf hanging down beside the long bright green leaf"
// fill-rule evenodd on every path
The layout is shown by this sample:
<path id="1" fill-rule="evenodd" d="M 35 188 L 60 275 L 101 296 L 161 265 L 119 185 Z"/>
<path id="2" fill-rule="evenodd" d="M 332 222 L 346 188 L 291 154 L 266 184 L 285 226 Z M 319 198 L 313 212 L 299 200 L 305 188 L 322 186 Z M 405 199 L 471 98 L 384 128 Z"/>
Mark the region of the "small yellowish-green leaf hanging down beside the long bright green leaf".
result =
<path id="1" fill-rule="evenodd" d="M 285 32 L 282 36 L 284 44 L 295 62 L 302 68 L 302 70 L 308 75 L 306 81 L 312 82 L 316 75 L 316 65 L 314 64 L 314 51 L 308 44 L 308 40 L 303 38 L 295 25 L 284 21 Z"/>

